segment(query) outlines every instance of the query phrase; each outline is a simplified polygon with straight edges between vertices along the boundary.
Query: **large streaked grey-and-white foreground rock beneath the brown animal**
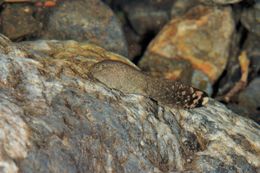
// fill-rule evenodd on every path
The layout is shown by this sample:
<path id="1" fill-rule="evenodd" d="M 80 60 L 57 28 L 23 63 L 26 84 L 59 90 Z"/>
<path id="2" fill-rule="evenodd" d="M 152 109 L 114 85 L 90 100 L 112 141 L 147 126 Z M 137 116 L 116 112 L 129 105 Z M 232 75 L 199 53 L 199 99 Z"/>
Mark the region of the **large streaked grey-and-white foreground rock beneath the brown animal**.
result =
<path id="1" fill-rule="evenodd" d="M 37 53 L 0 37 L 2 172 L 259 171 L 253 121 L 214 100 L 187 111 L 111 90 L 85 77 L 83 54 L 59 58 L 61 45 L 75 50 L 61 43 Z"/>

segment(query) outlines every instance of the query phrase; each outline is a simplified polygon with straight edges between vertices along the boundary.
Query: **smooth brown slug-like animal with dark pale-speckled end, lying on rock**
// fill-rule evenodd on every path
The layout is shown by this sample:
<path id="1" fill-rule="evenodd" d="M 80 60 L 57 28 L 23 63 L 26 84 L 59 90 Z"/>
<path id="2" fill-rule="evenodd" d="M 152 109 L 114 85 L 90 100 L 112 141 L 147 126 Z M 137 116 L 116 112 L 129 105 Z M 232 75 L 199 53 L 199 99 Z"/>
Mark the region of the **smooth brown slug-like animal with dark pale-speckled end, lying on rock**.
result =
<path id="1" fill-rule="evenodd" d="M 165 105 L 194 108 L 206 104 L 203 91 L 180 82 L 154 78 L 119 61 L 105 60 L 92 66 L 90 77 L 125 94 L 141 94 Z"/>

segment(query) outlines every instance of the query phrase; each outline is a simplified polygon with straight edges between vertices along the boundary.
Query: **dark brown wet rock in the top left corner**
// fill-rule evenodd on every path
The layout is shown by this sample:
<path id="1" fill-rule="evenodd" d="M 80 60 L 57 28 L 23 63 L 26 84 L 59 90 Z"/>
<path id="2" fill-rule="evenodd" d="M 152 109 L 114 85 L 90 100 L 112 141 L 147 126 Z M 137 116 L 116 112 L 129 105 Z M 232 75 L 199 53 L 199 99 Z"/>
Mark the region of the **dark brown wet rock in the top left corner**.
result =
<path id="1" fill-rule="evenodd" d="M 1 32 L 12 40 L 36 35 L 41 29 L 41 23 L 33 17 L 31 6 L 6 5 L 1 19 Z"/>

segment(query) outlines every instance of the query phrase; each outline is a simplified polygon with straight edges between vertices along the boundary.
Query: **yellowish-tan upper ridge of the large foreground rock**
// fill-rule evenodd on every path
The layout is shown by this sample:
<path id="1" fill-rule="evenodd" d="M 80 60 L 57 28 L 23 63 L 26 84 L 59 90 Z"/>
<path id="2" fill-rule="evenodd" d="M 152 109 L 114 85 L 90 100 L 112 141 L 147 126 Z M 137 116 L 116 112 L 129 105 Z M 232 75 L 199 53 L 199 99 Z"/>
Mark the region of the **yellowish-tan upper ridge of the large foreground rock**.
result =
<path id="1" fill-rule="evenodd" d="M 122 61 L 126 64 L 136 67 L 131 61 L 119 54 L 106 51 L 105 49 L 90 43 L 82 43 L 76 41 L 57 41 L 57 40 L 38 40 L 38 41 L 24 41 L 16 44 L 22 50 L 30 52 L 34 59 L 40 58 L 41 61 L 48 64 L 41 56 L 37 56 L 34 52 L 40 52 L 48 59 L 54 60 L 51 63 L 57 63 L 60 70 L 63 66 L 67 66 L 68 74 L 79 74 L 85 78 L 88 69 L 95 63 L 107 59 Z M 64 64 L 59 64 L 58 61 L 63 61 Z M 72 62 L 70 62 L 72 61 Z M 79 63 L 81 62 L 81 63 Z M 73 65 L 76 63 L 77 66 Z M 79 63 L 79 64 L 78 64 Z M 137 67 L 136 67 L 137 68 Z"/>

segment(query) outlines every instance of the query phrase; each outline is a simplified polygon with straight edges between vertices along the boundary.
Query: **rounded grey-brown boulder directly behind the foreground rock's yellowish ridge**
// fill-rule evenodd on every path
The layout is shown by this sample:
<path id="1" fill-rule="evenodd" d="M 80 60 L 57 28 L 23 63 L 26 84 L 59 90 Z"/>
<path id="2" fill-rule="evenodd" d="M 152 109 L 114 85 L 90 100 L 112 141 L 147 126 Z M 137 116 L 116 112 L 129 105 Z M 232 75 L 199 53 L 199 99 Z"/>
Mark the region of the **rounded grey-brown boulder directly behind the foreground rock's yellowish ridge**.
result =
<path id="1" fill-rule="evenodd" d="M 99 0 L 60 2 L 52 8 L 41 38 L 88 41 L 121 55 L 128 55 L 118 19 Z"/>

